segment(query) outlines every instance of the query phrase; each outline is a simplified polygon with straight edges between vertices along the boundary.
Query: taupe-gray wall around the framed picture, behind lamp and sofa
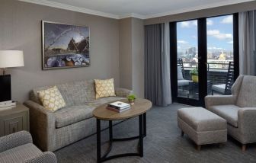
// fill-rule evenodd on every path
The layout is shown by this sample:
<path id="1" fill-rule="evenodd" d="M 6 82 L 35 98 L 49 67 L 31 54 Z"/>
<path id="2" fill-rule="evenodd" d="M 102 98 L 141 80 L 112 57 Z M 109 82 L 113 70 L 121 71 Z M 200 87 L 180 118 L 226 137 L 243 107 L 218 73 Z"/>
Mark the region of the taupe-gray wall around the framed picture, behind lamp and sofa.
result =
<path id="1" fill-rule="evenodd" d="M 41 70 L 41 21 L 90 27 L 91 66 Z M 90 14 L 14 0 L 0 2 L 0 50 L 24 50 L 22 68 L 11 73 L 12 100 L 25 101 L 32 88 L 91 78 L 115 78 L 119 86 L 119 22 Z"/>

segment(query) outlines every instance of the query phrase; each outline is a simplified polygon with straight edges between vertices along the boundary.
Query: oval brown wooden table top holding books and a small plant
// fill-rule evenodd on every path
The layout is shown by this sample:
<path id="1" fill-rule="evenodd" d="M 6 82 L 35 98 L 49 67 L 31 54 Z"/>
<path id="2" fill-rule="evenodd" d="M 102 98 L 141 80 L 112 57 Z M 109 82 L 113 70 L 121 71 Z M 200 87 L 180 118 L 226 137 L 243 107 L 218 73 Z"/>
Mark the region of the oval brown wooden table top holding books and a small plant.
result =
<path id="1" fill-rule="evenodd" d="M 128 103 L 127 99 L 120 100 L 122 102 Z M 112 102 L 110 102 L 112 103 Z M 107 103 L 107 104 L 110 104 Z M 124 120 L 131 117 L 136 117 L 142 113 L 146 113 L 152 107 L 152 102 L 146 99 L 138 98 L 135 103 L 131 105 L 129 110 L 125 110 L 121 113 L 114 112 L 112 110 L 107 110 L 107 104 L 103 104 L 93 110 L 93 115 L 99 120 Z"/>

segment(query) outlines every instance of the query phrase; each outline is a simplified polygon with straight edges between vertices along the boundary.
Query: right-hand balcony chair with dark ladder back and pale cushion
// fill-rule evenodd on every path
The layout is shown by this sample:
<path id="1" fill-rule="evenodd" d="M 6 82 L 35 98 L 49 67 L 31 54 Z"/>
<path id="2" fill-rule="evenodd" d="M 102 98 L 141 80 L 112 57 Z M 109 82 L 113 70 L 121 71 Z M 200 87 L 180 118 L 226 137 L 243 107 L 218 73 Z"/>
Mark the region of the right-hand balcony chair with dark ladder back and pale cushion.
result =
<path id="1" fill-rule="evenodd" d="M 234 62 L 229 62 L 229 69 L 226 75 L 226 83 L 212 86 L 212 94 L 214 92 L 223 95 L 231 94 L 231 87 L 234 84 Z"/>

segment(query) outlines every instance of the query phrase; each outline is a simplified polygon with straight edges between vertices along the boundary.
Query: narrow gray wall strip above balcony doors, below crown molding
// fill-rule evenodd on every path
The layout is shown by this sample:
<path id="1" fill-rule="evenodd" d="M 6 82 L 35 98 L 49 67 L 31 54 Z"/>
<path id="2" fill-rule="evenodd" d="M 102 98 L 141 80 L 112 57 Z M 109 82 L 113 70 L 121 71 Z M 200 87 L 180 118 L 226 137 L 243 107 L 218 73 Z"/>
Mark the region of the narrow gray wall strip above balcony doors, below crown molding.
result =
<path id="1" fill-rule="evenodd" d="M 226 5 L 218 8 L 209 8 L 199 11 L 190 11 L 181 14 L 171 14 L 158 18 L 150 18 L 144 21 L 145 25 L 149 24 L 159 24 L 165 23 L 169 21 L 184 21 L 194 18 L 203 18 L 203 17 L 211 17 L 217 16 L 220 14 L 232 14 L 240 11 L 250 11 L 256 9 L 256 1 L 253 2 L 244 2 L 235 5 Z"/>

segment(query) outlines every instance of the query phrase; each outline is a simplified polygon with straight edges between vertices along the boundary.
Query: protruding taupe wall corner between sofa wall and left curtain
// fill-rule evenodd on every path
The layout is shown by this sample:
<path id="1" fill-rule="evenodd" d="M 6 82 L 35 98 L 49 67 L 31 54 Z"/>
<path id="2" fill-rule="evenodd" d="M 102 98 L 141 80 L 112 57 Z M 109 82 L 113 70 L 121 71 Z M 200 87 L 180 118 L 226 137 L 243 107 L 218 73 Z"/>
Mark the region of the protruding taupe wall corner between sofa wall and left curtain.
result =
<path id="1" fill-rule="evenodd" d="M 144 22 L 120 20 L 120 86 L 144 97 Z"/>

